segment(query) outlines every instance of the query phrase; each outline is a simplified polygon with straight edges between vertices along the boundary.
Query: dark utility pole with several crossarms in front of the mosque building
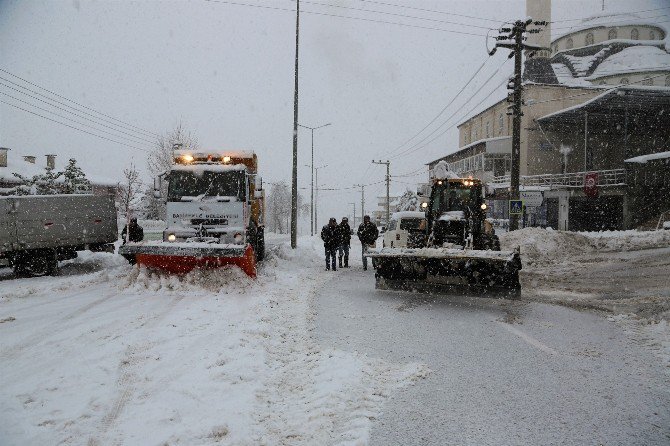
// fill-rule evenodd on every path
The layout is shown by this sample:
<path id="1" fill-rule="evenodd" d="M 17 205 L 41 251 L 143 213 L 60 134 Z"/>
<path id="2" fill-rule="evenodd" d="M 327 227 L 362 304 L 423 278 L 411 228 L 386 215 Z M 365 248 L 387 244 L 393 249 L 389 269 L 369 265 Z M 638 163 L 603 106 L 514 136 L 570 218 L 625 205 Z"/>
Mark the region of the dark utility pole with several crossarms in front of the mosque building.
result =
<path id="1" fill-rule="evenodd" d="M 508 97 L 507 101 L 512 102 L 511 112 L 507 112 L 508 115 L 512 115 L 512 171 L 510 172 L 510 200 L 519 199 L 519 172 L 521 169 L 520 157 L 521 157 L 521 117 L 523 112 L 521 111 L 521 106 L 523 105 L 523 85 L 521 83 L 521 58 L 523 56 L 524 50 L 538 50 L 544 49 L 534 45 L 524 44 L 523 41 L 526 39 L 525 34 L 528 33 L 539 33 L 540 29 L 527 29 L 529 25 L 537 26 L 546 26 L 547 22 L 536 21 L 533 22 L 533 19 L 527 20 L 517 20 L 514 22 L 511 28 L 501 28 L 499 32 L 508 33 L 506 35 L 501 35 L 496 37 L 498 43 L 489 53 L 492 56 L 498 48 L 507 48 L 512 50 L 508 57 L 514 57 L 514 76 L 507 84 L 507 88 L 512 90 L 512 99 Z M 515 231 L 519 229 L 519 215 L 511 214 L 509 216 L 509 230 Z"/>

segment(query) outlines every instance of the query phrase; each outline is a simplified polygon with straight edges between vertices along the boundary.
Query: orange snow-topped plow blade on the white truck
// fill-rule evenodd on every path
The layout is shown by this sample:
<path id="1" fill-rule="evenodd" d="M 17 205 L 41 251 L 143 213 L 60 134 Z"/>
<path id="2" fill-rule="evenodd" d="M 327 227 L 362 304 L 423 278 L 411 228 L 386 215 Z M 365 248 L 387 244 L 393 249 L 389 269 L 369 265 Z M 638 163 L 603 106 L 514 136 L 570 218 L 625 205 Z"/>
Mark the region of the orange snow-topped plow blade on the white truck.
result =
<path id="1" fill-rule="evenodd" d="M 129 243 L 119 247 L 119 254 L 135 256 L 139 265 L 172 274 L 186 274 L 195 268 L 216 269 L 236 265 L 249 277 L 256 277 L 256 256 L 251 245 L 188 245 Z"/>

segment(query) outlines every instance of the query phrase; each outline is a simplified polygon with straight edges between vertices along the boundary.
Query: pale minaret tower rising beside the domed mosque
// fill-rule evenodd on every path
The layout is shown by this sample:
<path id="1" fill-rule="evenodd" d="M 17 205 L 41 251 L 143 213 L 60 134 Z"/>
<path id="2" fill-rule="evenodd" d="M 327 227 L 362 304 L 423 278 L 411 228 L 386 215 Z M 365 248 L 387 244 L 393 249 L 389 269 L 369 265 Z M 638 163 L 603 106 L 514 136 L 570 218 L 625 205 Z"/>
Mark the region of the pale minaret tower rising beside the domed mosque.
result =
<path id="1" fill-rule="evenodd" d="M 537 34 L 527 34 L 527 45 L 542 47 L 525 51 L 523 80 L 542 84 L 557 84 L 556 74 L 551 68 L 551 0 L 526 0 L 526 15 L 536 21 L 547 22 L 546 26 L 530 25 L 529 29 L 540 29 Z M 531 57 L 532 54 L 532 57 Z"/>

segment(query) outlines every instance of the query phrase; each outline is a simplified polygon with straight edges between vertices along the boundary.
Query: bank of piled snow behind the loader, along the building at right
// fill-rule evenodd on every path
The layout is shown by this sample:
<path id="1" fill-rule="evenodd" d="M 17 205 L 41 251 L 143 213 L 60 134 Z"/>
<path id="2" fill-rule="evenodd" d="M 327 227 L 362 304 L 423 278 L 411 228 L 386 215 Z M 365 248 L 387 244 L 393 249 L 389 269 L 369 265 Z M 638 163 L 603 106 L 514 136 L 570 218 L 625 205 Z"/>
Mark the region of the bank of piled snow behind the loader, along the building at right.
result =
<path id="1" fill-rule="evenodd" d="M 636 251 L 670 246 L 670 231 L 568 232 L 551 228 L 524 228 L 500 236 L 503 250 L 521 247 L 524 265 L 569 261 L 596 251 Z"/>

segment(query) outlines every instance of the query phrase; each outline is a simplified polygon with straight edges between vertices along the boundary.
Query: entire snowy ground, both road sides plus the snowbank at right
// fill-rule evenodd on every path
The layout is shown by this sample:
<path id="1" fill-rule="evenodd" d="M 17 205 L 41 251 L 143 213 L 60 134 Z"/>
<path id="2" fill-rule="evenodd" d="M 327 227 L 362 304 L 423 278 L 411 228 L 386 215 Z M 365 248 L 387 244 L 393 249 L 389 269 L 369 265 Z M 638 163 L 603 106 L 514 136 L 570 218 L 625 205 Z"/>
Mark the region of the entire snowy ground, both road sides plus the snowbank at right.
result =
<path id="1" fill-rule="evenodd" d="M 376 291 L 317 238 L 270 239 L 257 280 L 0 270 L 0 445 L 668 444 L 666 235 L 524 231 L 521 301 Z M 583 264 L 661 322 L 544 303 L 631 300 Z"/>

